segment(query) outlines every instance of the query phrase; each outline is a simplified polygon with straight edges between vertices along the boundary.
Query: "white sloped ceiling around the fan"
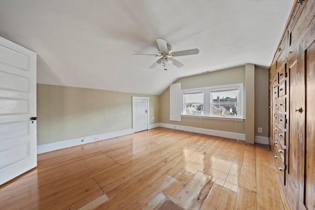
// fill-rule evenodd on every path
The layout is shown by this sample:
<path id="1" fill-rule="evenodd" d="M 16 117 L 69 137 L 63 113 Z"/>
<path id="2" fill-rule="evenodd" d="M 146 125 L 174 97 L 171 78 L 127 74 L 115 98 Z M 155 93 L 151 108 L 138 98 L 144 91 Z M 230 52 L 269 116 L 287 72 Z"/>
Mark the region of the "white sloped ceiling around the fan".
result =
<path id="1" fill-rule="evenodd" d="M 268 67 L 294 0 L 0 0 L 0 36 L 37 53 L 37 83 L 160 94 L 176 79 Z M 156 39 L 183 68 L 157 66 Z"/>

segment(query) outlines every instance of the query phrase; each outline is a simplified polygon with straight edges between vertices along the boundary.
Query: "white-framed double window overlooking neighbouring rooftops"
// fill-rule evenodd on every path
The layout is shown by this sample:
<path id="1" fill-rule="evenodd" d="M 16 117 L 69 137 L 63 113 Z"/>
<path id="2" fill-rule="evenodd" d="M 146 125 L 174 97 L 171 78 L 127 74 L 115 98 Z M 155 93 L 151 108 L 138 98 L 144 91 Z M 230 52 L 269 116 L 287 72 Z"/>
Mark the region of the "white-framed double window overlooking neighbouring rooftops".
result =
<path id="1" fill-rule="evenodd" d="M 243 83 L 182 90 L 183 115 L 243 118 Z"/>

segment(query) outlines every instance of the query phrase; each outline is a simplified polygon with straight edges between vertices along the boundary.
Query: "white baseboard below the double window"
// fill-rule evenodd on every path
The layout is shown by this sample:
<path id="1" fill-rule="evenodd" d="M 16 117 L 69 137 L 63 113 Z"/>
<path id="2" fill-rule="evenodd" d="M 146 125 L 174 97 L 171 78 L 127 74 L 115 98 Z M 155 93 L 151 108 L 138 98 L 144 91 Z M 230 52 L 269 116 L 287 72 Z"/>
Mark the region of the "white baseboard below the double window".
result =
<path id="1" fill-rule="evenodd" d="M 201 133 L 211 136 L 219 136 L 223 138 L 228 139 L 236 139 L 245 141 L 245 134 L 243 133 L 233 133 L 233 132 L 227 132 L 227 131 L 221 131 L 221 130 L 212 130 L 212 129 L 206 129 L 206 128 L 198 128 L 198 127 L 190 127 L 185 125 L 175 125 L 175 124 L 168 124 L 168 123 L 159 123 L 160 127 L 166 127 L 176 130 L 183 130 L 183 131 L 189 131 L 193 133 Z"/>

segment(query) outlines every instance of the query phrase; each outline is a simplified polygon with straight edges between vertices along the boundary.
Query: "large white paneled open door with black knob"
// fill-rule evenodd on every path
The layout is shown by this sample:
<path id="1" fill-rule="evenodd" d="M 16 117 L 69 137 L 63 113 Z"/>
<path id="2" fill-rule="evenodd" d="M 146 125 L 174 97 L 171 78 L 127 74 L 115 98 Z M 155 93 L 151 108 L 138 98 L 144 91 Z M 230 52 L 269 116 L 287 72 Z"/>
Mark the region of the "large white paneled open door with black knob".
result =
<path id="1" fill-rule="evenodd" d="M 36 54 L 0 37 L 0 184 L 37 165 Z"/>

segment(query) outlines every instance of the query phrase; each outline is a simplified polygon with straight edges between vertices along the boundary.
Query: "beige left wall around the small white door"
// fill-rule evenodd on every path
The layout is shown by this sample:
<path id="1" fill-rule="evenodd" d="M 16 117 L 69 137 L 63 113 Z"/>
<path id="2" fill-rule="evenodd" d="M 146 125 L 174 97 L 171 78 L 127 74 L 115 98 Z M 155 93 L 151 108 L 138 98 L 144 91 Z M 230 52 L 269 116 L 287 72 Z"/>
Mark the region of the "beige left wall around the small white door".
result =
<path id="1" fill-rule="evenodd" d="M 159 122 L 157 95 L 37 84 L 37 145 L 132 128 L 132 96 L 150 97 Z"/>

